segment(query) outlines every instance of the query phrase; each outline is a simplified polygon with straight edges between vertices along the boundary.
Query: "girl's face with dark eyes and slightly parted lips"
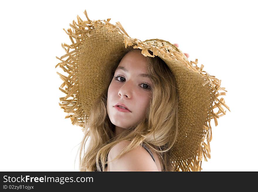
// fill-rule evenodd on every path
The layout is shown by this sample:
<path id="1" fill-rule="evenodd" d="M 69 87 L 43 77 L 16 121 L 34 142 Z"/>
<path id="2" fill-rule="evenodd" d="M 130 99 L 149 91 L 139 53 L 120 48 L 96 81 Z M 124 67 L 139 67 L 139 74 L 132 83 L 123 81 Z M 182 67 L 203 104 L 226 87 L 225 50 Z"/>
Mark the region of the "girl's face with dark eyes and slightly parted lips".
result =
<path id="1" fill-rule="evenodd" d="M 147 73 L 146 57 L 135 50 L 128 52 L 116 68 L 107 97 L 108 116 L 116 128 L 126 129 L 144 119 L 152 95 L 152 82 L 143 75 Z M 129 111 L 119 111 L 117 103 Z"/>

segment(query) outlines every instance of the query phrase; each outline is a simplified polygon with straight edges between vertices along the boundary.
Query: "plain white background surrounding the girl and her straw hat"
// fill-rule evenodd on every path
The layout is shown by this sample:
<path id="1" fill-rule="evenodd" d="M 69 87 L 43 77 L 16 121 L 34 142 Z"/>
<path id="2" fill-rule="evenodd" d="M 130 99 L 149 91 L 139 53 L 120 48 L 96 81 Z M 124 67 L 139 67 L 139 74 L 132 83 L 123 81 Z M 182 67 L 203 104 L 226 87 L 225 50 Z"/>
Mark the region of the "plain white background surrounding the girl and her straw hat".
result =
<path id="1" fill-rule="evenodd" d="M 66 30 L 86 9 L 111 18 L 133 38 L 178 43 L 189 61 L 221 79 L 230 107 L 212 121 L 211 159 L 203 171 L 258 171 L 257 6 L 254 1 L 3 1 L 0 171 L 78 171 L 83 133 L 60 108 L 56 56 Z M 220 97 L 219 97 L 220 98 Z M 217 109 L 216 109 L 217 111 Z"/>

